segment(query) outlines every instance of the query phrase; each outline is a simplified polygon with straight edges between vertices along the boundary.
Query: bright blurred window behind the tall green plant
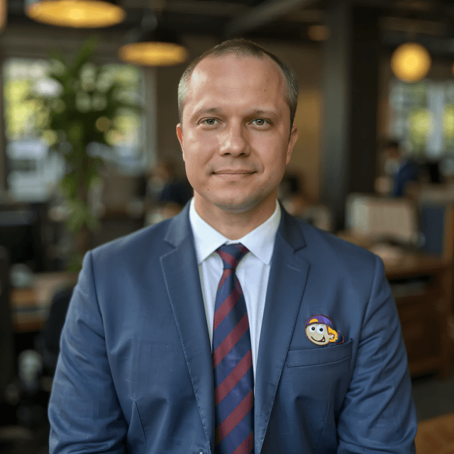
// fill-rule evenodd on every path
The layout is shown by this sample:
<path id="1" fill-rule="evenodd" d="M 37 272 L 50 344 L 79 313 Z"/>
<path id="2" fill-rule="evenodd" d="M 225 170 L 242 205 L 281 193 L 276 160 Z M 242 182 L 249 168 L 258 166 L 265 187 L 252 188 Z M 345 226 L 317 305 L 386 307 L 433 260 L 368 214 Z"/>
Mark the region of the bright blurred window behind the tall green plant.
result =
<path id="1" fill-rule="evenodd" d="M 65 173 L 65 162 L 57 153 L 57 132 L 48 128 L 49 112 L 37 101 L 28 99 L 38 94 L 55 98 L 53 109 L 65 109 L 60 84 L 49 77 L 59 69 L 56 60 L 10 58 L 4 62 L 4 118 L 6 129 L 6 159 L 8 186 L 20 201 L 43 201 L 55 189 Z M 64 70 L 65 68 L 60 68 Z M 96 73 L 99 71 L 99 74 Z M 143 73 L 130 65 L 91 63 L 82 67 L 81 87 L 76 96 L 77 109 L 82 114 L 106 102 L 103 93 L 115 80 L 121 86 L 116 96 L 123 101 L 141 104 L 145 87 Z M 98 94 L 87 91 L 96 82 Z M 106 120 L 106 119 L 105 119 Z M 114 128 L 106 134 L 109 146 L 92 143 L 87 152 L 113 162 L 121 171 L 133 175 L 145 170 L 145 131 L 143 118 L 132 109 L 118 109 Z M 107 128 L 102 118 L 96 121 L 99 130 Z"/>

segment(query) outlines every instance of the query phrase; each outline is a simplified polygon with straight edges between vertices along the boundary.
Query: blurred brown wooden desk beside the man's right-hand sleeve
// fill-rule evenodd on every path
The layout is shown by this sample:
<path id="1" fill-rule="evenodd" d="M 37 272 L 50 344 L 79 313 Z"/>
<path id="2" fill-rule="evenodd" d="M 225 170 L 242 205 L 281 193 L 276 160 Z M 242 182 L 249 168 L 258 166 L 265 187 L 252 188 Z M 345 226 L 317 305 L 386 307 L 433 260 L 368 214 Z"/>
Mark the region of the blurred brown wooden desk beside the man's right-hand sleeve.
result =
<path id="1" fill-rule="evenodd" d="M 374 245 L 365 238 L 346 233 L 340 237 L 373 250 Z M 449 327 L 453 316 L 453 261 L 409 252 L 396 260 L 382 260 L 402 324 L 411 375 L 438 372 L 446 377 L 453 349 Z"/>

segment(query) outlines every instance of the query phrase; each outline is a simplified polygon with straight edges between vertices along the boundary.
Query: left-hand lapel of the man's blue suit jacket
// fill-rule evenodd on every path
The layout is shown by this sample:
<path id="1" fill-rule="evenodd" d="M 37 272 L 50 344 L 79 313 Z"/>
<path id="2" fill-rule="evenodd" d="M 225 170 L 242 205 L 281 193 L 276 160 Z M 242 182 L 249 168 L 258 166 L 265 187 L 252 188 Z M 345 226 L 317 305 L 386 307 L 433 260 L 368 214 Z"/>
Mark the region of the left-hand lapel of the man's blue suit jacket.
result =
<path id="1" fill-rule="evenodd" d="M 172 219 L 165 241 L 174 246 L 160 258 L 165 285 L 211 452 L 214 450 L 213 360 L 199 269 L 189 224 L 189 204 Z"/>

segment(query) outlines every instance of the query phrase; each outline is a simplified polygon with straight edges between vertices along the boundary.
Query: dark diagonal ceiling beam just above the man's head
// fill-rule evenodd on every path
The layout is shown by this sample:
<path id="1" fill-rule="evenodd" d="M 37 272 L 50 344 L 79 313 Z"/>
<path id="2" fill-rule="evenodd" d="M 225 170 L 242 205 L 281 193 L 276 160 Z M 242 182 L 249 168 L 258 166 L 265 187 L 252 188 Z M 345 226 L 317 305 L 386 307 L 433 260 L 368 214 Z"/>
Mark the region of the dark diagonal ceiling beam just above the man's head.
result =
<path id="1" fill-rule="evenodd" d="M 246 13 L 227 23 L 225 34 L 228 37 L 245 33 L 265 23 L 274 21 L 301 6 L 309 6 L 314 0 L 265 0 Z"/>

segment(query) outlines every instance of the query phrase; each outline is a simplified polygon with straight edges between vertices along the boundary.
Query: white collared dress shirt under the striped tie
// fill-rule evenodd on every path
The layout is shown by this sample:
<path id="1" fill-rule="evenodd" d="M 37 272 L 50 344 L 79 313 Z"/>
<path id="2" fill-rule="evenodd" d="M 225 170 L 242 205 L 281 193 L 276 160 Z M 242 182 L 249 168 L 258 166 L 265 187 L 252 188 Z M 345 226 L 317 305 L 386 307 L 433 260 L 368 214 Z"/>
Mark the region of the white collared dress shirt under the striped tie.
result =
<path id="1" fill-rule="evenodd" d="M 216 249 L 225 243 L 242 243 L 250 251 L 240 261 L 236 269 L 236 275 L 243 289 L 246 308 L 248 309 L 254 380 L 260 329 L 262 328 L 268 277 L 270 276 L 271 256 L 280 220 L 281 209 L 279 203 L 276 201 L 275 212 L 264 223 L 239 240 L 229 240 L 199 216 L 194 208 L 194 199 L 192 199 L 189 208 L 189 221 L 191 222 L 192 232 L 194 233 L 197 264 L 199 265 L 201 291 L 204 297 L 206 323 L 208 323 L 211 349 L 213 348 L 213 320 L 216 292 L 223 272 L 223 262 L 218 253 L 216 253 Z"/>

